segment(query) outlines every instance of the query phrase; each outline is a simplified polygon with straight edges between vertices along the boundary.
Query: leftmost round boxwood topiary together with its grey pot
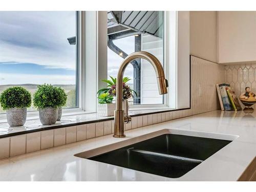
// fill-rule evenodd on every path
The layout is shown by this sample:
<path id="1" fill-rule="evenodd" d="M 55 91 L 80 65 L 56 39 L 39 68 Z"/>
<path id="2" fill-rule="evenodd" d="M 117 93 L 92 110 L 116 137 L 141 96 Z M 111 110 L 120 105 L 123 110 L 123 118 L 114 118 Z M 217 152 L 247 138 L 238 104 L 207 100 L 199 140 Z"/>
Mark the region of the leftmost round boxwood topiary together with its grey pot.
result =
<path id="1" fill-rule="evenodd" d="M 27 108 L 31 105 L 31 94 L 25 88 L 11 87 L 0 96 L 3 110 L 6 110 L 7 122 L 10 126 L 22 126 L 26 122 Z"/>

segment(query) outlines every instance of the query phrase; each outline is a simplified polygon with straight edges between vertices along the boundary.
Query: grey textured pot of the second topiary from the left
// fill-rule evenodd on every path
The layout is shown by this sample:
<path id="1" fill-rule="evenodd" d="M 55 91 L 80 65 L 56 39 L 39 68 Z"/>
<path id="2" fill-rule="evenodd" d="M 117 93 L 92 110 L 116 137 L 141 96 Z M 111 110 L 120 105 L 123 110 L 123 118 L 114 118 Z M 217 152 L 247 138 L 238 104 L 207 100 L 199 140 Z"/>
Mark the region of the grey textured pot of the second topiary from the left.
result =
<path id="1" fill-rule="evenodd" d="M 58 118 L 57 108 L 39 109 L 39 119 L 42 124 L 54 124 Z"/>

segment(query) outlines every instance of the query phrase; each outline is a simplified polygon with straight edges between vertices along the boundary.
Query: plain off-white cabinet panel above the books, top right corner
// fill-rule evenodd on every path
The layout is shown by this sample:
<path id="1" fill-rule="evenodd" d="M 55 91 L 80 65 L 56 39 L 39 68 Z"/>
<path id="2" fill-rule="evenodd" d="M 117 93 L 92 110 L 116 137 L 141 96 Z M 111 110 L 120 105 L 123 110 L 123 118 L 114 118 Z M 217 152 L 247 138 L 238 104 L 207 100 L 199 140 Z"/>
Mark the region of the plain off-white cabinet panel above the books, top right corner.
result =
<path id="1" fill-rule="evenodd" d="M 219 63 L 256 60 L 256 11 L 219 11 Z"/>

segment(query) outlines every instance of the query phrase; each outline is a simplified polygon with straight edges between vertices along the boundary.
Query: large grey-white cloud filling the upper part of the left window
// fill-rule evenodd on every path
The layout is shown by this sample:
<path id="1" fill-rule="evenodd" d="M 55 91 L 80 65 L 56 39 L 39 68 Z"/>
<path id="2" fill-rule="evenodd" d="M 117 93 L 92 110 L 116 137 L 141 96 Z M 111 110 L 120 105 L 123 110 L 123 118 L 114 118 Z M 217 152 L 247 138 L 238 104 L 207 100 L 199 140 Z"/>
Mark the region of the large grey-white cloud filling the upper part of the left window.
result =
<path id="1" fill-rule="evenodd" d="M 0 61 L 75 69 L 75 11 L 1 11 Z"/>

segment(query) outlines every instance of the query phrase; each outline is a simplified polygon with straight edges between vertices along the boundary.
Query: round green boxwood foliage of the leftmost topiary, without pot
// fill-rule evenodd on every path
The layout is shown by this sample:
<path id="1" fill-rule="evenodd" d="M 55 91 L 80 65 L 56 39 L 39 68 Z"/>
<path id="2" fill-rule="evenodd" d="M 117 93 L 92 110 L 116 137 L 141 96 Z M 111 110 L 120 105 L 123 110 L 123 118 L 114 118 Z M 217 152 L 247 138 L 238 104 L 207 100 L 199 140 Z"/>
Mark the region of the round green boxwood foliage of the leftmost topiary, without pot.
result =
<path id="1" fill-rule="evenodd" d="M 6 89 L 0 96 L 3 110 L 10 108 L 29 108 L 31 105 L 31 94 L 25 88 L 15 86 Z"/>

